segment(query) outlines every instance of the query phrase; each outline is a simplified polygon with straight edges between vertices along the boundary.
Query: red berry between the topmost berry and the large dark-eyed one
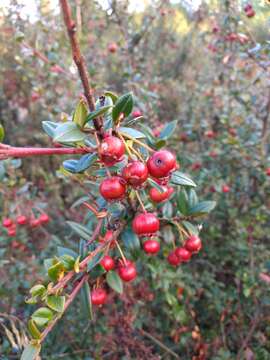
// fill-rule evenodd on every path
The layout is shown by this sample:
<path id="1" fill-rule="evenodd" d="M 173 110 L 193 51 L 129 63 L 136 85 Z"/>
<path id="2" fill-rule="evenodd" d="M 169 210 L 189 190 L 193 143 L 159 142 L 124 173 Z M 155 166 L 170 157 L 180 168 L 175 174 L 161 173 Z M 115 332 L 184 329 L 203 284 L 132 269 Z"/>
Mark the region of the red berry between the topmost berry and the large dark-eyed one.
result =
<path id="1" fill-rule="evenodd" d="M 142 185 L 148 177 L 147 166 L 141 161 L 132 161 L 124 167 L 122 176 L 132 186 Z"/>

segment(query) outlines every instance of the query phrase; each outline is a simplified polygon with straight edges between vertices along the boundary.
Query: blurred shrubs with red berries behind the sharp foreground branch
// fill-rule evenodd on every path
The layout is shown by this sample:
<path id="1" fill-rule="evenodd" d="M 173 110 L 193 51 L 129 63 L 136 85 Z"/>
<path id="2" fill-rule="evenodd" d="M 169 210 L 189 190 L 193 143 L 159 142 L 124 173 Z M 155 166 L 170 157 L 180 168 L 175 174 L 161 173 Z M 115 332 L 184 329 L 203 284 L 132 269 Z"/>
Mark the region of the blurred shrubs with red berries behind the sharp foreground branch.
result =
<path id="1" fill-rule="evenodd" d="M 269 1 L 70 3 L 96 95 L 132 90 L 156 134 L 177 120 L 169 146 L 218 205 L 194 261 L 145 264 L 91 323 L 78 300 L 42 359 L 270 359 Z M 56 0 L 1 1 L 0 65 L 4 143 L 51 146 L 41 122 L 61 121 L 82 93 Z M 51 218 L 16 236 L 1 230 L 1 359 L 19 359 L 33 311 L 24 299 L 43 260 L 72 243 L 65 220 L 84 220 L 61 160 L 0 162 L 1 217 Z"/>

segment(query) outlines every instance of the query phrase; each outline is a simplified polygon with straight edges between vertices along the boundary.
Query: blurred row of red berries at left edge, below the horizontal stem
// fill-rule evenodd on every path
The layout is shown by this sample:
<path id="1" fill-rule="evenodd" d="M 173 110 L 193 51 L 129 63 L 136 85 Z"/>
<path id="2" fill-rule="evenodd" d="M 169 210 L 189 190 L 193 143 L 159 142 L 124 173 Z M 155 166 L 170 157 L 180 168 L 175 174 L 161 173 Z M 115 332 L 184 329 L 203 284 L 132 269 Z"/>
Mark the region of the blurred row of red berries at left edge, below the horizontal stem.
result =
<path id="1" fill-rule="evenodd" d="M 42 213 L 38 218 L 28 218 L 25 215 L 19 215 L 15 220 L 11 218 L 3 219 L 2 225 L 7 229 L 8 236 L 14 237 L 16 236 L 16 228 L 17 225 L 29 225 L 31 228 L 36 228 L 40 225 L 47 224 L 50 221 L 48 214 Z"/>

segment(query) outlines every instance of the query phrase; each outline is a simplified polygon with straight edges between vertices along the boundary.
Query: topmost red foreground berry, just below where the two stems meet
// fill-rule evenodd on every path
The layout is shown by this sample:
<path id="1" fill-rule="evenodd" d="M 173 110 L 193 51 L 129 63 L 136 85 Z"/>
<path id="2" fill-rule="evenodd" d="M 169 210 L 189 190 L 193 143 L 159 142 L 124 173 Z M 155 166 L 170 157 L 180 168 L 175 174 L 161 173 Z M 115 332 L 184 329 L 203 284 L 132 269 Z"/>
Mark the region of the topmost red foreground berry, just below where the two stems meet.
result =
<path id="1" fill-rule="evenodd" d="M 99 156 L 101 161 L 107 166 L 112 166 L 121 161 L 124 154 L 125 145 L 116 136 L 107 136 L 100 144 Z"/>

